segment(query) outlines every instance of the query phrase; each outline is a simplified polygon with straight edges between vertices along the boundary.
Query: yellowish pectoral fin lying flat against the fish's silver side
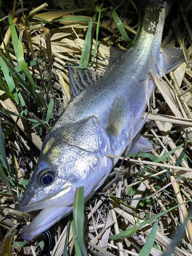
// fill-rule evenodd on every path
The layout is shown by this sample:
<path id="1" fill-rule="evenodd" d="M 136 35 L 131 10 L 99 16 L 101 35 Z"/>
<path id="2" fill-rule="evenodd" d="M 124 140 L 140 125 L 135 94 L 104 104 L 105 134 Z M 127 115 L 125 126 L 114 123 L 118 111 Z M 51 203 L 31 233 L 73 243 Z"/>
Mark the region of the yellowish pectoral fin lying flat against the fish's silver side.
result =
<path id="1" fill-rule="evenodd" d="M 111 108 L 108 125 L 106 126 L 106 132 L 109 135 L 115 138 L 118 137 L 123 123 L 126 122 L 127 113 L 130 114 L 129 100 L 124 95 L 117 95 Z"/>

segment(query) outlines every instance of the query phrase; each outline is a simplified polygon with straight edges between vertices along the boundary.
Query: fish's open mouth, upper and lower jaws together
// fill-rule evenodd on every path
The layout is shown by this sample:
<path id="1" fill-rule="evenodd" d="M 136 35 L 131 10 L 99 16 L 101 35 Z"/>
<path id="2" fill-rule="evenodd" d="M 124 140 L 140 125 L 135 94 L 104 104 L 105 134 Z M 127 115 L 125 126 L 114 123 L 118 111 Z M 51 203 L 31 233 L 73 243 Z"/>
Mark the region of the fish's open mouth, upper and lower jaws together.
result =
<path id="1" fill-rule="evenodd" d="M 22 230 L 20 237 L 30 241 L 70 214 L 73 210 L 74 189 L 69 189 L 67 192 L 66 189 L 60 189 L 46 200 L 40 200 L 31 204 L 27 202 L 27 197 L 25 198 L 24 195 L 24 199 L 19 205 L 19 210 L 35 217 Z M 60 195 L 62 196 L 59 197 Z"/>

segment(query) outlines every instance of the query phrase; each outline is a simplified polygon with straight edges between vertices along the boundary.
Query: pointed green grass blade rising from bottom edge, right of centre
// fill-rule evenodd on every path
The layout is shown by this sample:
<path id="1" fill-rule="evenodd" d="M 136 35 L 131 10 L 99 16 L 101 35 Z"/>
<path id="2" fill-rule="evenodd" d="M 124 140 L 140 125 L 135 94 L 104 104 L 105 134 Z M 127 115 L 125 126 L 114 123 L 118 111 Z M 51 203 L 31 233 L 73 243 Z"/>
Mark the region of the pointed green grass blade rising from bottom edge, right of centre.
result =
<path id="1" fill-rule="evenodd" d="M 157 232 L 157 228 L 158 228 L 158 220 L 155 221 L 152 230 L 150 232 L 150 234 L 148 235 L 148 238 L 146 240 L 146 243 L 144 244 L 144 246 L 142 247 L 142 249 L 139 252 L 138 256 L 149 256 L 151 249 L 153 248 L 154 245 L 154 241 L 155 241 L 155 236 L 156 236 L 156 232 Z"/>

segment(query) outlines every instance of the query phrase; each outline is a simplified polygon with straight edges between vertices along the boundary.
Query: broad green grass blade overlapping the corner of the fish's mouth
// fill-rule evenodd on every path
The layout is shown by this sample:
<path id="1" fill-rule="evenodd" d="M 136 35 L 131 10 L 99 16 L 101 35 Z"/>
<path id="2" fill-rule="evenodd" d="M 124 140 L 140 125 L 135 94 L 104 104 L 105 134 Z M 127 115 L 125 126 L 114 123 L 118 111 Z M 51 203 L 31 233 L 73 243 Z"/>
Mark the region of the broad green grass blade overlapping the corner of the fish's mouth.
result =
<path id="1" fill-rule="evenodd" d="M 73 220 L 77 236 L 77 243 L 83 256 L 87 256 L 86 246 L 83 240 L 83 214 L 84 214 L 84 187 L 76 189 L 73 202 Z"/>

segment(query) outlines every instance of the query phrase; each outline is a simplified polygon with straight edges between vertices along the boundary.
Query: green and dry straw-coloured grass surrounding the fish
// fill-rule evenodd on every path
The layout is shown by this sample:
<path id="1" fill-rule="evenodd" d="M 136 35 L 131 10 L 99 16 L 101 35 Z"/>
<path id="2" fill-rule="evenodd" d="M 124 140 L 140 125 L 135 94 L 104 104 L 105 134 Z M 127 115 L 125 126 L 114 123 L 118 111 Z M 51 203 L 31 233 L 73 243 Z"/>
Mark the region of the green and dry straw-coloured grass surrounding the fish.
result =
<path id="1" fill-rule="evenodd" d="M 27 216 L 16 209 L 42 141 L 69 101 L 68 61 L 102 73 L 110 46 L 125 50 L 138 35 L 140 11 L 133 1 L 113 6 L 58 3 L 34 6 L 28 13 L 24 1 L 15 15 L 7 9 L 15 13 L 20 8 L 16 1 L 13 6 L 2 3 L 2 31 L 6 25 L 10 29 L 3 32 L 0 53 L 1 243 L 6 237 L 1 256 L 10 248 L 12 255 L 40 255 L 44 247 L 42 237 L 20 239 L 18 223 Z M 154 150 L 128 155 L 124 168 L 112 171 L 86 203 L 84 222 L 82 188 L 76 191 L 74 218 L 50 228 L 51 255 L 191 255 L 190 11 L 186 1 L 173 9 L 165 25 L 162 47 L 169 42 L 180 46 L 187 59 L 162 79 L 154 77 L 153 108 L 142 131 Z M 175 22 L 178 14 L 180 22 Z"/>

